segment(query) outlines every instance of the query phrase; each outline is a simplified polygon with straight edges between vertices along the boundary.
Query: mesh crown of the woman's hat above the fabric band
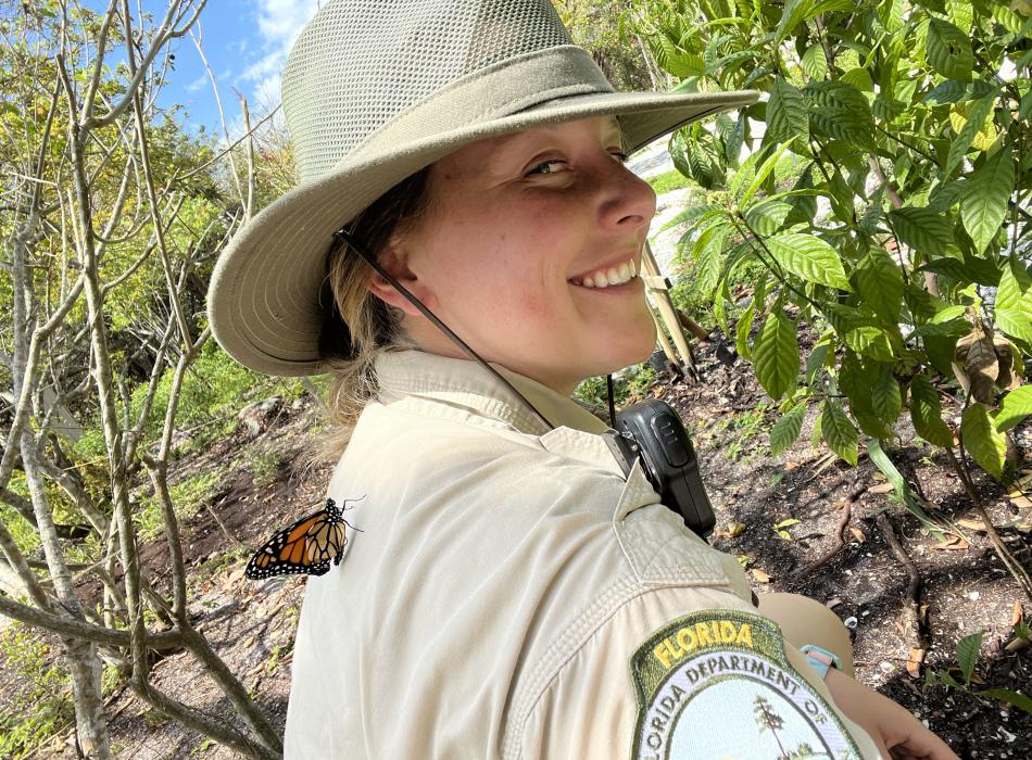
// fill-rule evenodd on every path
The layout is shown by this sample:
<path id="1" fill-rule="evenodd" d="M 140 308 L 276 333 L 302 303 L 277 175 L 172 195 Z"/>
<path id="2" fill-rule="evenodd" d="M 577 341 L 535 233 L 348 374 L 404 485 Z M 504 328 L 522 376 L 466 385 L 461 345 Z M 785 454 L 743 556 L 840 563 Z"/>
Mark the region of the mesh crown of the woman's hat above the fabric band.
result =
<path id="1" fill-rule="evenodd" d="M 302 181 L 325 174 L 449 84 L 571 43 L 550 0 L 327 2 L 298 37 L 284 71 L 284 112 Z"/>

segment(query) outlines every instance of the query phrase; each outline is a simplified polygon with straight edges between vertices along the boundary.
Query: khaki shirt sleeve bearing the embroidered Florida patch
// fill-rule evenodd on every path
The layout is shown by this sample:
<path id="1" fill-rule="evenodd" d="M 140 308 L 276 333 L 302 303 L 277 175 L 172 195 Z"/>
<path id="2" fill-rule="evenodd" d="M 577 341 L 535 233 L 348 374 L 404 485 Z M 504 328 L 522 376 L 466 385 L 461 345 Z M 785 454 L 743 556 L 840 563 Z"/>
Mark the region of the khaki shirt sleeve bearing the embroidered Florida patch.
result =
<path id="1" fill-rule="evenodd" d="M 527 759 L 879 757 L 776 623 L 691 586 L 617 608 L 554 672 L 520 737 Z"/>

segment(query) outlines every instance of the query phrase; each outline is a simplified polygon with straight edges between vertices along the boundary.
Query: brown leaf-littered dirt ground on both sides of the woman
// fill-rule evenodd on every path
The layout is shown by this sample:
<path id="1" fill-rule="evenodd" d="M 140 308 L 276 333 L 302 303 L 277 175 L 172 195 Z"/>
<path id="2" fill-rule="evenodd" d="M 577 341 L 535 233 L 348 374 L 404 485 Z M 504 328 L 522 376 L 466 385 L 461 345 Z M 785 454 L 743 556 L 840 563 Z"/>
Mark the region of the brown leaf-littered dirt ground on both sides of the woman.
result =
<path id="1" fill-rule="evenodd" d="M 708 344 L 700 349 L 697 360 L 701 382 L 658 382 L 650 392 L 674 404 L 693 435 L 717 512 L 713 543 L 740 557 L 757 593 L 797 592 L 828 605 L 855 634 L 857 677 L 907 706 L 960 757 L 1029 758 L 1032 714 L 956 688 L 926 687 L 923 677 L 907 670 L 910 650 L 918 646 L 917 633 L 908 628 L 909 610 L 923 610 L 924 668 L 955 668 L 957 641 L 982 631 L 979 682 L 972 687 L 1032 692 L 1032 648 L 1009 651 L 1006 646 L 1016 609 L 1032 609 L 1032 601 L 1022 597 L 985 533 L 965 530 L 962 541 L 939 548 L 941 542 L 891 499 L 866 456 L 851 468 L 810 447 L 811 418 L 794 446 L 771 457 L 766 431 L 776 413 L 766 408 L 769 400 L 752 379 L 751 368 L 741 360 L 731 367 L 721 364 Z M 276 529 L 317 508 L 329 470 L 295 467 L 313 445 L 310 432 L 316 419 L 310 398 L 290 405 L 269 401 L 251 430 L 241 426 L 200 456 L 185 458 L 173 477 L 176 482 L 216 467 L 226 471 L 221 486 L 185 527 L 191 610 L 216 651 L 259 695 L 279 729 L 286 718 L 304 581 L 254 583 L 243 578 L 243 565 Z M 906 438 L 907 431 L 901 432 Z M 1029 427 L 1017 432 L 1019 448 L 1028 456 Z M 901 446 L 890 455 L 939 506 L 941 516 L 976 519 L 957 479 L 929 449 Z M 987 479 L 980 486 L 1004 541 L 1032 567 L 1032 503 L 1009 497 Z M 846 543 L 831 556 L 846 510 Z M 879 514 L 884 517 L 879 519 Z M 783 524 L 784 535 L 779 535 L 776 524 L 785 520 L 798 522 Z M 917 573 L 916 606 L 910 601 L 911 574 L 891 547 L 886 528 Z M 162 542 L 148 545 L 143 558 L 152 575 L 163 575 Z M 232 720 L 226 700 L 198 675 L 189 655 L 156 661 L 154 674 L 162 691 Z M 959 677 L 956 669 L 953 674 Z M 235 757 L 163 720 L 128 691 L 112 695 L 108 712 L 119 758 Z M 72 742 L 65 731 L 34 757 L 74 758 Z"/>

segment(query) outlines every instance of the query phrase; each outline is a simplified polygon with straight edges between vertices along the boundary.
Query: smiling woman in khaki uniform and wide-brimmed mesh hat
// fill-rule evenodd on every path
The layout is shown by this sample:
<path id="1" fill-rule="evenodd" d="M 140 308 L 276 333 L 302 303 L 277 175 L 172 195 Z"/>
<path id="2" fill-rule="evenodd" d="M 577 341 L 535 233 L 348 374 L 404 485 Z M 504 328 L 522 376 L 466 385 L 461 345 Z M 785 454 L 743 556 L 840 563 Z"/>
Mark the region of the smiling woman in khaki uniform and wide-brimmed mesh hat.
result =
<path id="1" fill-rule="evenodd" d="M 288 756 L 955 757 L 843 672 L 820 605 L 757 610 L 569 400 L 655 341 L 624 152 L 753 100 L 615 93 L 546 0 L 337 0 L 302 33 L 304 182 L 210 296 L 241 363 L 335 371 L 351 436 L 328 495 L 362 533 L 306 590 Z"/>

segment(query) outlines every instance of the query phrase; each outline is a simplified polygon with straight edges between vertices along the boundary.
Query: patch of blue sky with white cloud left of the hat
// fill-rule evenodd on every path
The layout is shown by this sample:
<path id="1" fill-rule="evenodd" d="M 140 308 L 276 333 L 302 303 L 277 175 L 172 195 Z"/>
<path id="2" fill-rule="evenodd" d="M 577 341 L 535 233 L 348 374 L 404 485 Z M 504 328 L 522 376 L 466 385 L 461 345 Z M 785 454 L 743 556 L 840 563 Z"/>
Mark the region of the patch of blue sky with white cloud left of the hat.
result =
<path id="1" fill-rule="evenodd" d="M 164 13 L 162 0 L 144 0 L 143 8 L 155 16 Z M 201 12 L 201 43 L 218 83 L 226 121 L 239 125 L 240 104 L 234 88 L 248 99 L 252 114 L 279 102 L 279 73 L 290 46 L 304 23 L 318 8 L 318 0 L 209 0 Z M 193 40 L 187 36 L 173 42 L 176 69 L 169 76 L 159 102 L 181 104 L 189 118 L 180 123 L 196 130 L 201 125 L 222 134 L 222 124 L 212 83 Z"/>

